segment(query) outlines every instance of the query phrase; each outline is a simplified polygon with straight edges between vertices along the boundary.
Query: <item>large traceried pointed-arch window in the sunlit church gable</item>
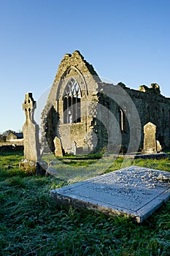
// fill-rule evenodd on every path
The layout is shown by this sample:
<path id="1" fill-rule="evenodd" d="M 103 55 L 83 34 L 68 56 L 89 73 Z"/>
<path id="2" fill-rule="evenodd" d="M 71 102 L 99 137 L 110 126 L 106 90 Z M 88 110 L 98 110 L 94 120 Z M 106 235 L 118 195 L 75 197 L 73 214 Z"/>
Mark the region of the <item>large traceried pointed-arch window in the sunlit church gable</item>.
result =
<path id="1" fill-rule="evenodd" d="M 71 78 L 63 92 L 63 124 L 80 123 L 80 86 Z"/>

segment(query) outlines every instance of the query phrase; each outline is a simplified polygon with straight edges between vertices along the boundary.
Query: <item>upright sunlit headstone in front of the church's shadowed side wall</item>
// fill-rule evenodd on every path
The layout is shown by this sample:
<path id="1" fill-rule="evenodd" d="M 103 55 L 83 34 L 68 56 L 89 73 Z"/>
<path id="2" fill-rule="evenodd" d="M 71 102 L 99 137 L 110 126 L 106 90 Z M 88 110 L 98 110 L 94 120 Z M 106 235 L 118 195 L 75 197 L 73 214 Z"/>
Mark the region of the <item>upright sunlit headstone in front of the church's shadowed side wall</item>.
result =
<path id="1" fill-rule="evenodd" d="M 145 153 L 156 153 L 156 126 L 152 123 L 147 123 L 144 125 L 144 149 Z"/>

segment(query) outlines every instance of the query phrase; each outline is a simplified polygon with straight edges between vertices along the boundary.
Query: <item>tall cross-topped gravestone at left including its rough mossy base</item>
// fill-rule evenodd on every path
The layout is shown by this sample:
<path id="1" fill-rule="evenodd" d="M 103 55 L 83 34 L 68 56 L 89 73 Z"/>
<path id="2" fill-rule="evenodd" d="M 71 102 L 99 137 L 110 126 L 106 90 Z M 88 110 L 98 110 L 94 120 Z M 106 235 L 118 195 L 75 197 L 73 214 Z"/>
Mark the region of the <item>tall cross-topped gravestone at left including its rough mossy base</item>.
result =
<path id="1" fill-rule="evenodd" d="M 44 175 L 47 163 L 43 162 L 40 157 L 39 126 L 34 121 L 35 109 L 36 102 L 32 94 L 26 94 L 26 99 L 23 102 L 23 110 L 26 113 L 26 122 L 23 124 L 24 159 L 20 162 L 19 167 L 26 173 Z"/>

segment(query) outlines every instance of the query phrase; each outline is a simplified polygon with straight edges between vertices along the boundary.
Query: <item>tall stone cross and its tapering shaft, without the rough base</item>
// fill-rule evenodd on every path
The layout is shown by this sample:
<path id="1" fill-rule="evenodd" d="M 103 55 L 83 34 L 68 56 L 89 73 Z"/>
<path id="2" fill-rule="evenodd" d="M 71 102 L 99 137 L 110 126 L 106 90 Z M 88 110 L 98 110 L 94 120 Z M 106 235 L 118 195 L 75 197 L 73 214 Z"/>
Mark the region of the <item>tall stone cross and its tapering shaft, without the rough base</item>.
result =
<path id="1" fill-rule="evenodd" d="M 37 161 L 40 158 L 39 126 L 34 121 L 35 108 L 36 102 L 32 94 L 26 94 L 23 103 L 23 110 L 26 113 L 26 122 L 23 124 L 24 158 L 31 161 Z"/>

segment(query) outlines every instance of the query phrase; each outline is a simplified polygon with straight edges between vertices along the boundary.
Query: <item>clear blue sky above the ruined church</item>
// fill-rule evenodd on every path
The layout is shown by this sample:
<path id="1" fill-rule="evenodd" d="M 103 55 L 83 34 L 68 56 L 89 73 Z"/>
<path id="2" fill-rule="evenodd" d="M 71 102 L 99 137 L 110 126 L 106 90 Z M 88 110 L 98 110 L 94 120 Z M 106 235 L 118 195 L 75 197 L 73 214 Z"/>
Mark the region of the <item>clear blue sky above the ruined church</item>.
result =
<path id="1" fill-rule="evenodd" d="M 170 97 L 169 0 L 0 0 L 0 132 L 22 129 L 65 53 L 80 50 L 101 78 Z"/>

